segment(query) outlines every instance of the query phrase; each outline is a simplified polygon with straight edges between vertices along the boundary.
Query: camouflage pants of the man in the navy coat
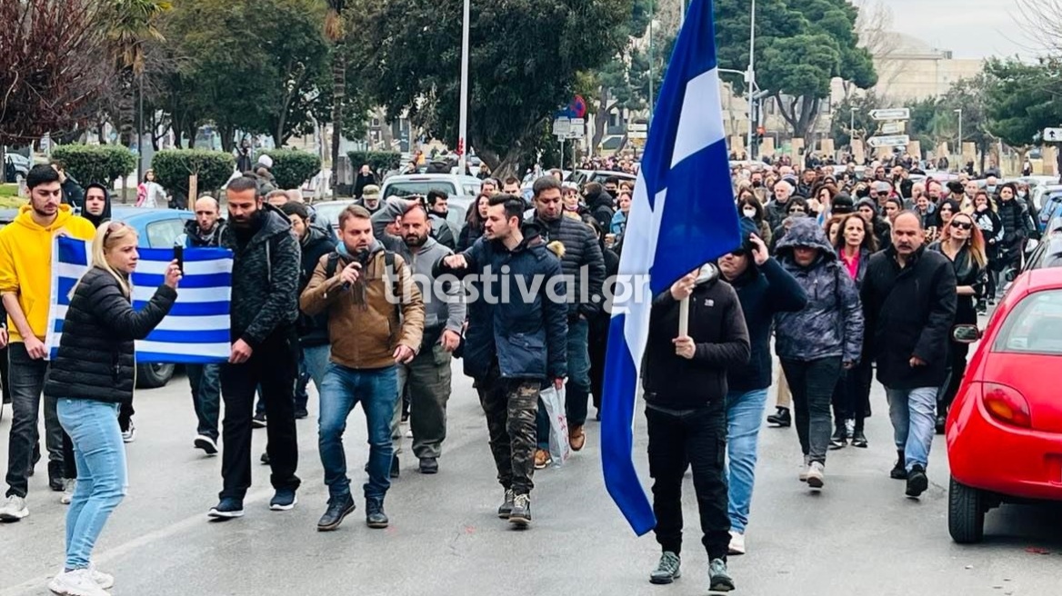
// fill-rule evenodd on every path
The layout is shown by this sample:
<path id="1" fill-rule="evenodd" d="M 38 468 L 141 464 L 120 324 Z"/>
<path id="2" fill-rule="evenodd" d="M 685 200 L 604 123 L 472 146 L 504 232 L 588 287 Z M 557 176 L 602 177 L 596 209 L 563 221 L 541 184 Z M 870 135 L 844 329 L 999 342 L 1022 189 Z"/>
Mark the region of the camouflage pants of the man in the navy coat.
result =
<path id="1" fill-rule="evenodd" d="M 516 494 L 530 494 L 534 488 L 531 476 L 534 474 L 535 417 L 542 383 L 500 379 L 496 374 L 477 381 L 498 481 Z"/>

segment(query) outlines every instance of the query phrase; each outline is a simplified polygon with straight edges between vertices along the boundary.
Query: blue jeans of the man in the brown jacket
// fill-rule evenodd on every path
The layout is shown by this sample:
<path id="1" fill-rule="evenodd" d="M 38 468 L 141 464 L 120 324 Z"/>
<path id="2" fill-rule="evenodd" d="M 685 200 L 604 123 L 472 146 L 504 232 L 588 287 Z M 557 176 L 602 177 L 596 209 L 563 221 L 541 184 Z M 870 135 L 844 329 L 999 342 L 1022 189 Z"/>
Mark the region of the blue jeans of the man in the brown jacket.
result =
<path id="1" fill-rule="evenodd" d="M 398 403 L 396 367 L 354 369 L 329 363 L 321 385 L 318 448 L 325 469 L 325 484 L 332 498 L 350 493 L 346 477 L 343 432 L 355 404 L 361 402 L 369 426 L 369 481 L 365 498 L 383 498 L 391 488 L 391 417 Z"/>

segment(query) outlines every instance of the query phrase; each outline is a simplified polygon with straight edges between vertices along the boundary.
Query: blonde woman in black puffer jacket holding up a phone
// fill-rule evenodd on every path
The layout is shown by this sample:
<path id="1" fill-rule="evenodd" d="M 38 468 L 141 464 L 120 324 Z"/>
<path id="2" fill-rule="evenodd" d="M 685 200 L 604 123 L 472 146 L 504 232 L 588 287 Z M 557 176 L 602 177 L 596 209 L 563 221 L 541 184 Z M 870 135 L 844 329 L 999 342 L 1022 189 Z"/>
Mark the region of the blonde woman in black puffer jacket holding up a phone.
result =
<path id="1" fill-rule="evenodd" d="M 134 310 L 130 278 L 138 257 L 133 228 L 119 222 L 100 226 L 92 268 L 73 290 L 58 354 L 45 382 L 45 395 L 57 400 L 59 423 L 73 441 L 78 462 L 67 511 L 66 563 L 48 584 L 55 594 L 106 596 L 115 583 L 96 569 L 91 555 L 127 486 L 118 410 L 133 399 L 133 341 L 147 337 L 170 312 L 181 280 L 174 261 L 148 304 Z"/>

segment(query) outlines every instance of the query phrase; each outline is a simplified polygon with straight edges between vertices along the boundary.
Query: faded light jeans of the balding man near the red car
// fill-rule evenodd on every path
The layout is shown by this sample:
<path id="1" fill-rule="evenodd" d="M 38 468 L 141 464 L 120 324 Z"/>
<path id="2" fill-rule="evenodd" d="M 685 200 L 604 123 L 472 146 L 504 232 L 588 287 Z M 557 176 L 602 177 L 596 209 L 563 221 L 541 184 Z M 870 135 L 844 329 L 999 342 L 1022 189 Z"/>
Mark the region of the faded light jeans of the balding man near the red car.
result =
<path id="1" fill-rule="evenodd" d="M 908 472 L 915 463 L 929 464 L 929 449 L 937 432 L 937 387 L 917 389 L 885 388 L 889 399 L 889 419 L 896 449 L 904 452 L 904 467 Z"/>

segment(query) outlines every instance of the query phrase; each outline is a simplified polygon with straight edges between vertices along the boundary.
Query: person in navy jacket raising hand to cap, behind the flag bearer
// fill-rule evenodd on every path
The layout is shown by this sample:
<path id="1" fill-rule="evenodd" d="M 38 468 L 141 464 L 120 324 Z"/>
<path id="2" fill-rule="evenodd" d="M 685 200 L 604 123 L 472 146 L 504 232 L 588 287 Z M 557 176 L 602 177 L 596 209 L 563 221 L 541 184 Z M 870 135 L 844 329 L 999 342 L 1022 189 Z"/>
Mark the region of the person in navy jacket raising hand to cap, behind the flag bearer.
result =
<path id="1" fill-rule="evenodd" d="M 852 199 L 847 201 L 851 209 Z M 748 364 L 734 366 L 726 374 L 731 555 L 746 551 L 744 528 L 749 523 L 755 481 L 759 421 L 773 376 L 771 327 L 774 315 L 795 313 L 807 304 L 804 288 L 768 255 L 767 246 L 755 230 L 755 222 L 742 217 L 740 248 L 719 259 L 722 279 L 734 286 L 741 303 L 752 353 Z"/>

